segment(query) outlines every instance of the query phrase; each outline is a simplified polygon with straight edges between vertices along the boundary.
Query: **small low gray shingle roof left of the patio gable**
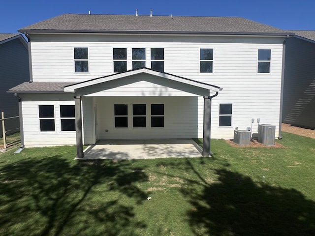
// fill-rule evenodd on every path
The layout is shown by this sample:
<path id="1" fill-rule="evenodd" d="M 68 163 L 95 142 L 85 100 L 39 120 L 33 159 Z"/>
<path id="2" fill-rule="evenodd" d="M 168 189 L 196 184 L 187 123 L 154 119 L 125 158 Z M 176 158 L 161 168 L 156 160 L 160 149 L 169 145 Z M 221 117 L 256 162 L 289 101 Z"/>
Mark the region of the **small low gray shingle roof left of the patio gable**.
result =
<path id="1" fill-rule="evenodd" d="M 56 82 L 24 82 L 18 86 L 9 89 L 8 93 L 60 93 L 63 92 L 63 88 L 73 83 L 56 83 Z"/>

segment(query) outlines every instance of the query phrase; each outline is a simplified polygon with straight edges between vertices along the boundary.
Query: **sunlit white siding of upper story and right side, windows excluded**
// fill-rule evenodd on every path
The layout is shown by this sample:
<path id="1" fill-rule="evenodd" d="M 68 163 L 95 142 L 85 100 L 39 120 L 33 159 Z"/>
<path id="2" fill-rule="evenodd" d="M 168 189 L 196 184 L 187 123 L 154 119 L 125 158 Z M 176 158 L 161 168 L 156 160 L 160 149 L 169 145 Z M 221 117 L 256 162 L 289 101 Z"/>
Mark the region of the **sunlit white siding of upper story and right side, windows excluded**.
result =
<path id="1" fill-rule="evenodd" d="M 260 118 L 261 124 L 276 125 L 278 136 L 284 38 L 32 34 L 31 39 L 33 81 L 43 82 L 77 83 L 113 74 L 113 48 L 127 48 L 128 70 L 131 49 L 146 48 L 150 68 L 150 48 L 164 48 L 165 72 L 223 88 L 212 100 L 212 138 L 232 138 L 234 128 L 251 127 L 252 118 L 253 131 Z M 89 48 L 89 73 L 74 73 L 74 47 Z M 213 73 L 199 73 L 200 48 L 213 48 Z M 258 49 L 271 49 L 270 73 L 257 73 Z M 198 100 L 197 133 L 202 138 L 203 98 Z M 219 127 L 220 103 L 233 105 L 231 127 Z"/>

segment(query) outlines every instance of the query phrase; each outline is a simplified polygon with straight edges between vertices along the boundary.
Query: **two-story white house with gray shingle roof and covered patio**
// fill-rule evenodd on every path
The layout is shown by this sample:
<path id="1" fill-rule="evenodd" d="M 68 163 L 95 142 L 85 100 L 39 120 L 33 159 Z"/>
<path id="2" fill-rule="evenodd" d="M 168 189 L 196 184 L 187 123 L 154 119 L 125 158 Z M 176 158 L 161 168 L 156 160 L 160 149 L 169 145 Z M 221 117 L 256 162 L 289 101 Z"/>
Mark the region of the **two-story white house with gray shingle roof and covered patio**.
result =
<path id="1" fill-rule="evenodd" d="M 19 32 L 32 83 L 9 92 L 26 147 L 204 138 L 206 156 L 210 123 L 211 138 L 233 138 L 252 118 L 279 134 L 284 30 L 239 17 L 65 14 Z"/>

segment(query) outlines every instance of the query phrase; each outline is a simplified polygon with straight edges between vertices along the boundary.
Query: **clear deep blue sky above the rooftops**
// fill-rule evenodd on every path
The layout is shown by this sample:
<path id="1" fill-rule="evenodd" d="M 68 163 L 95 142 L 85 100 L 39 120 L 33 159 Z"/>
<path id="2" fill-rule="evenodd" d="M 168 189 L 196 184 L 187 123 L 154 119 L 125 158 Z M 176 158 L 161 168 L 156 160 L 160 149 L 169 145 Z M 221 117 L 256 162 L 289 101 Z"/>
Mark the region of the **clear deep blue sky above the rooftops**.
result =
<path id="1" fill-rule="evenodd" d="M 238 16 L 280 29 L 315 30 L 315 0 L 0 0 L 0 33 L 65 13 Z"/>

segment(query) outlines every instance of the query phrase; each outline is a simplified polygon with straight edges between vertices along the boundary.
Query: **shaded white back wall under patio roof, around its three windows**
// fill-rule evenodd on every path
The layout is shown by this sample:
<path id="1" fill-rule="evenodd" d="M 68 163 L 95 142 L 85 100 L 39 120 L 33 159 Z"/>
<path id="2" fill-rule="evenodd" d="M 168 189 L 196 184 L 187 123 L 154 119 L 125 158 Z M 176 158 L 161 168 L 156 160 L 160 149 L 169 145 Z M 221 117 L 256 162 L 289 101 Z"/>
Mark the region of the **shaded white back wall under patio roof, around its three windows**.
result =
<path id="1" fill-rule="evenodd" d="M 197 97 L 95 97 L 95 103 L 98 139 L 197 137 Z M 128 128 L 115 128 L 114 104 L 128 105 Z M 145 128 L 132 127 L 132 104 L 146 104 Z M 164 104 L 164 127 L 151 127 L 151 104 Z"/>

